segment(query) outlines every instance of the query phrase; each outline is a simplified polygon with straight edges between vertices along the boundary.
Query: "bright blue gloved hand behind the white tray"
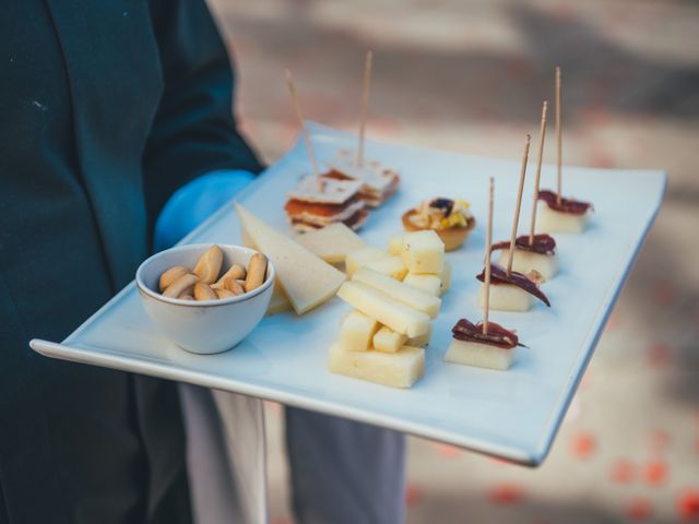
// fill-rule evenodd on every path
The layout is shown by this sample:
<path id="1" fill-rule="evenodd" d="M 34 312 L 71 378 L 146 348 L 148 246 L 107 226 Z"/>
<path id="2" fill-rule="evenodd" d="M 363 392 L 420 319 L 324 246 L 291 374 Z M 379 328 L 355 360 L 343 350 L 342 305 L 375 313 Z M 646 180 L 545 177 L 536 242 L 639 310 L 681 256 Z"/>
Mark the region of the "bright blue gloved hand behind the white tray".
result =
<path id="1" fill-rule="evenodd" d="M 254 175 L 248 171 L 213 171 L 181 187 L 157 217 L 154 250 L 162 251 L 177 243 L 253 178 Z"/>

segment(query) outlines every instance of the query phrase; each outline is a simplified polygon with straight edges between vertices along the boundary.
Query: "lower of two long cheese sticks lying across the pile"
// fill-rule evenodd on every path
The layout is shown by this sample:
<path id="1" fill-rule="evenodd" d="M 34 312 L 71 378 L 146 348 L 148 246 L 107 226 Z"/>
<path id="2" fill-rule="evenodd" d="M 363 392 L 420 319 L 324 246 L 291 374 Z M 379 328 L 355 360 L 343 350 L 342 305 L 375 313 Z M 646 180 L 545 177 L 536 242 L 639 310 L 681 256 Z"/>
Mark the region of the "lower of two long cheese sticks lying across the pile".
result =
<path id="1" fill-rule="evenodd" d="M 345 282 L 337 296 L 364 314 L 407 336 L 429 329 L 429 317 L 359 282 Z"/>

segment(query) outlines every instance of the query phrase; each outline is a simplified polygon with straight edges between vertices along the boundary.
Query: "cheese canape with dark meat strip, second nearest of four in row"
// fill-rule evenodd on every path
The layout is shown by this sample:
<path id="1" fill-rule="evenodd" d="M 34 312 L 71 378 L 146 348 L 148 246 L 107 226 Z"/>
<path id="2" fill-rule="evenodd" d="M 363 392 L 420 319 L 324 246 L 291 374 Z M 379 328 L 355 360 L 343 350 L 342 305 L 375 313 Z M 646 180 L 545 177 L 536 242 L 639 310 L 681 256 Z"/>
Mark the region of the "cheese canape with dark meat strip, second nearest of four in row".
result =
<path id="1" fill-rule="evenodd" d="M 485 270 L 476 276 L 485 282 Z M 529 311 L 537 298 L 550 307 L 548 297 L 538 288 L 536 273 L 523 275 L 517 271 L 507 274 L 507 271 L 497 264 L 490 265 L 490 308 L 500 311 Z M 485 303 L 485 284 L 481 286 L 478 306 Z"/>

